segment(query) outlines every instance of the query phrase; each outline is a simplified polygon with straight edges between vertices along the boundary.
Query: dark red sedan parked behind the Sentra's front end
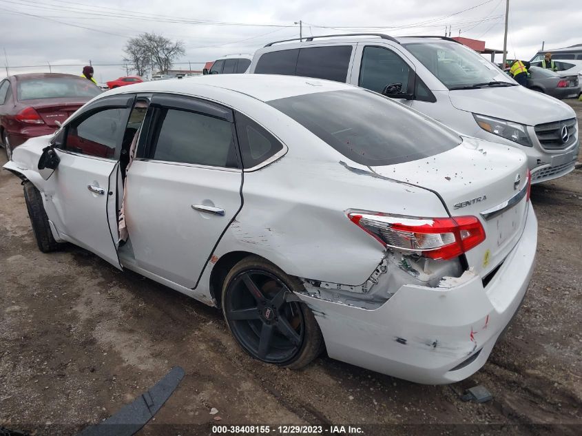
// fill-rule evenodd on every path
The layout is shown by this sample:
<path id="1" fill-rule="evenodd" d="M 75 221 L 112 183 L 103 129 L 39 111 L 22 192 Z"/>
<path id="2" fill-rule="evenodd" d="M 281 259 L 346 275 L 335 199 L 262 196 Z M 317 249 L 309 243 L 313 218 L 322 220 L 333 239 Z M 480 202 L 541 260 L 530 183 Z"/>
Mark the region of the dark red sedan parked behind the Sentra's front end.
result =
<path id="1" fill-rule="evenodd" d="M 15 147 L 52 134 L 101 92 L 92 81 L 72 74 L 16 74 L 0 81 L 0 141 L 8 160 Z"/>

